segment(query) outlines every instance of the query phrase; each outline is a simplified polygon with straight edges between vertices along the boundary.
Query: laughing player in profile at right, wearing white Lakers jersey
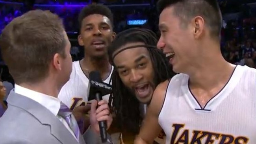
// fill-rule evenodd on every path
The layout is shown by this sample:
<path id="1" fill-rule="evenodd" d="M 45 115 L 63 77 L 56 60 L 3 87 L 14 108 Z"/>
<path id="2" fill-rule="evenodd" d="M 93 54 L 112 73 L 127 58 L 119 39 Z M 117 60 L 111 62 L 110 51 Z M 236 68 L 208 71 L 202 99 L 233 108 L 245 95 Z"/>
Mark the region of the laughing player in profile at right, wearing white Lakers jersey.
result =
<path id="1" fill-rule="evenodd" d="M 256 70 L 224 60 L 217 0 L 160 0 L 161 48 L 173 65 L 154 91 L 135 144 L 256 144 Z"/>

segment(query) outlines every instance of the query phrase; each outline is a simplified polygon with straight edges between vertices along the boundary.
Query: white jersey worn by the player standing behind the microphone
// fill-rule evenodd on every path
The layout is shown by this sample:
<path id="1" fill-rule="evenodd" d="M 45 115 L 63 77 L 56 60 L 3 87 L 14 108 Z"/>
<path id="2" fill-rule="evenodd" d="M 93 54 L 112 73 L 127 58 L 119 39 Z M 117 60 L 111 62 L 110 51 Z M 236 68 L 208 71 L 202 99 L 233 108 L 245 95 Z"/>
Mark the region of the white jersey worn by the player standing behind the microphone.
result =
<path id="1" fill-rule="evenodd" d="M 111 73 L 108 78 L 104 80 L 104 83 L 109 83 L 111 74 L 113 72 L 113 66 L 111 68 Z M 70 74 L 69 81 L 61 88 L 58 98 L 63 103 L 65 103 L 70 109 L 74 107 L 85 105 L 88 101 L 87 89 L 88 89 L 89 79 L 85 76 L 80 66 L 79 61 L 74 61 L 72 63 L 72 72 Z M 111 83 L 110 83 L 111 84 Z M 109 94 L 103 96 L 103 100 L 108 101 Z"/>

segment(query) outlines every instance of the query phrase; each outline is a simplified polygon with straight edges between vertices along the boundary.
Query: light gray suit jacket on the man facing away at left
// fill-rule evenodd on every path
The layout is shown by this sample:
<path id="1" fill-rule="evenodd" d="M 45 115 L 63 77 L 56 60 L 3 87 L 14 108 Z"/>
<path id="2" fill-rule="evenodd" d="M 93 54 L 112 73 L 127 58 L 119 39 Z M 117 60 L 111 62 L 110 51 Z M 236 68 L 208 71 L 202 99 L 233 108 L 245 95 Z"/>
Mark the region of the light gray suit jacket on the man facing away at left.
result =
<path id="1" fill-rule="evenodd" d="M 85 144 L 43 105 L 11 90 L 0 118 L 0 144 Z"/>

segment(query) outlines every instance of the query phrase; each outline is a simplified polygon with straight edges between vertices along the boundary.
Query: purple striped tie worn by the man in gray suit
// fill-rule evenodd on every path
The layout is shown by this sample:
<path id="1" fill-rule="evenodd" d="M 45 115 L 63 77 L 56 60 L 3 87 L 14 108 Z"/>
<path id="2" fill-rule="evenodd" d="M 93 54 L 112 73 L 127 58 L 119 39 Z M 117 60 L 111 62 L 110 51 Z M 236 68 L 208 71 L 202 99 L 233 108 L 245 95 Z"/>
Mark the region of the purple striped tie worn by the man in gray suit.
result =
<path id="1" fill-rule="evenodd" d="M 70 111 L 69 107 L 67 107 L 67 105 L 61 102 L 58 114 L 66 120 L 70 129 L 74 132 L 76 138 L 79 139 L 80 130 L 76 122 L 76 119 L 72 115 L 72 112 Z"/>

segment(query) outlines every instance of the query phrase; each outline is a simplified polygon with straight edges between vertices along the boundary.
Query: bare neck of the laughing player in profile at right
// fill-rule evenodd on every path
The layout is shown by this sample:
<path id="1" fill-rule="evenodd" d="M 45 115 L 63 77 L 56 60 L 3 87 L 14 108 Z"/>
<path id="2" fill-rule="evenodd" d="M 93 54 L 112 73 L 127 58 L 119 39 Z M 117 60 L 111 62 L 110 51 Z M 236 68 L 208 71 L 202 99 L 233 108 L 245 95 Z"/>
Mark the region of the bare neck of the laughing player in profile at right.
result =
<path id="1" fill-rule="evenodd" d="M 211 90 L 216 85 L 226 83 L 235 66 L 224 59 L 219 43 L 205 41 L 200 47 L 200 58 L 188 67 L 189 86 Z"/>

